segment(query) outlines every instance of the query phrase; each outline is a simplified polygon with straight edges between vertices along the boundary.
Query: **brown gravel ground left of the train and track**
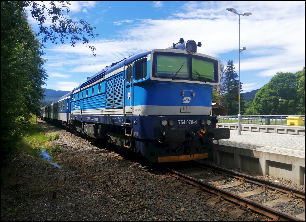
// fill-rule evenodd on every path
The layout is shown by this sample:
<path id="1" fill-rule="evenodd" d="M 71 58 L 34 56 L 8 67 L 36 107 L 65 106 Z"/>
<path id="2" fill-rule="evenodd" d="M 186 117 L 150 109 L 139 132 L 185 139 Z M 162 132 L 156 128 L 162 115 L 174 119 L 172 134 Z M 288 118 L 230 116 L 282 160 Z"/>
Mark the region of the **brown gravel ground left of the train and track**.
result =
<path id="1" fill-rule="evenodd" d="M 180 180 L 160 179 L 162 172 L 38 121 L 45 132 L 59 133 L 53 143 L 62 144 L 61 167 L 26 155 L 12 160 L 2 170 L 7 176 L 1 184 L 1 221 L 270 221 L 252 212 L 232 218 L 229 212 L 238 206 L 226 201 L 208 205 L 213 194 L 189 195 L 192 185 L 171 187 Z"/>

